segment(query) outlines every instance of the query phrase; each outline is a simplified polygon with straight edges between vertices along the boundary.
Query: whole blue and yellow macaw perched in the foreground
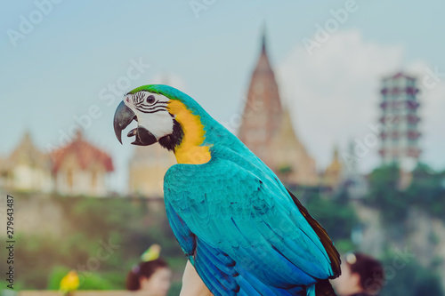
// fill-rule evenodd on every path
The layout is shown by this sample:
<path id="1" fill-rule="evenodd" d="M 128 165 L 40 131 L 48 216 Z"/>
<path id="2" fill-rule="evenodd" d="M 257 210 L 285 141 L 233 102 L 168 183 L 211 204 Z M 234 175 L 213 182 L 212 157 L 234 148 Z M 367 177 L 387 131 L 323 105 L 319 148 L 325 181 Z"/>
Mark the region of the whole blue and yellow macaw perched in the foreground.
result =
<path id="1" fill-rule="evenodd" d="M 134 145 L 158 142 L 166 213 L 183 252 L 214 295 L 335 295 L 340 258 L 326 231 L 275 173 L 187 94 L 167 85 L 128 92 L 114 129 L 133 120 Z"/>

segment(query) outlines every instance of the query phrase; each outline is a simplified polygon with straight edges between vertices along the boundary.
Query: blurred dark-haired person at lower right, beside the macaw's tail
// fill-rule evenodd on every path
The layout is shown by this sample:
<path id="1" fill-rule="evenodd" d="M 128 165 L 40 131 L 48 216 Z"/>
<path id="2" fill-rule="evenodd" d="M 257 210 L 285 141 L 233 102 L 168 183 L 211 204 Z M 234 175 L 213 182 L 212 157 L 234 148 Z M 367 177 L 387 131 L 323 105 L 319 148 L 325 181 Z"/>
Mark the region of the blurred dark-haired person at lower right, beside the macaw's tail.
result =
<path id="1" fill-rule="evenodd" d="M 377 295 L 384 285 L 382 264 L 368 255 L 350 252 L 341 268 L 342 275 L 332 281 L 339 296 Z"/>

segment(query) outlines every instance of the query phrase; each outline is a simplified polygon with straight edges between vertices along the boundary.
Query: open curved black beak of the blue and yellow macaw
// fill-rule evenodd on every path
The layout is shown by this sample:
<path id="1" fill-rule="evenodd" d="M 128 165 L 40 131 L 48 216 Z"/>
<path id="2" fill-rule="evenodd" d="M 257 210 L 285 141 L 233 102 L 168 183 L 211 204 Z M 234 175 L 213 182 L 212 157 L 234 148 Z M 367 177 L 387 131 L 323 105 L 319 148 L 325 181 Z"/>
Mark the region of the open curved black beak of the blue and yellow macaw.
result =
<path id="1" fill-rule="evenodd" d="M 117 106 L 116 113 L 114 115 L 114 132 L 116 133 L 117 140 L 122 144 L 122 131 L 131 124 L 132 121 L 136 120 L 137 117 L 131 108 L 128 108 L 124 101 L 122 101 L 119 106 Z M 156 143 L 158 140 L 156 137 L 147 129 L 142 126 L 128 132 L 128 137 L 136 136 L 136 140 L 132 144 L 139 146 L 148 146 Z"/>

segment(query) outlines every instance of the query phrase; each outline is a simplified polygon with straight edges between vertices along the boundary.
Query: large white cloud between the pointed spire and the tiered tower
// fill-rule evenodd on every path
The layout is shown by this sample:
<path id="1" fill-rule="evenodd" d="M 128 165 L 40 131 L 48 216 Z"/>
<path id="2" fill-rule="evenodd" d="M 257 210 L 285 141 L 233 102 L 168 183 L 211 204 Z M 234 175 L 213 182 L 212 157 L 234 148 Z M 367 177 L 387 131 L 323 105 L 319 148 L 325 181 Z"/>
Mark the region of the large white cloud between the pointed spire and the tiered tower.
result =
<path id="1" fill-rule="evenodd" d="M 379 116 L 380 79 L 403 69 L 403 56 L 401 45 L 368 42 L 360 31 L 351 30 L 331 36 L 312 56 L 298 44 L 279 64 L 281 97 L 292 110 L 295 131 L 320 169 L 330 162 L 334 145 L 346 148 L 348 140 L 363 141 L 372 132 L 368 124 L 376 124 Z M 407 68 L 422 78 L 419 69 L 425 67 L 425 62 L 417 61 Z M 428 157 L 435 151 L 429 145 L 441 145 L 444 151 L 444 140 L 438 133 L 439 126 L 444 126 L 440 112 L 445 110 L 444 89 L 438 84 L 429 91 L 432 97 L 441 98 L 425 101 L 422 109 L 421 115 L 428 117 L 421 143 Z M 378 164 L 377 150 L 378 145 L 360 160 L 362 171 Z"/>

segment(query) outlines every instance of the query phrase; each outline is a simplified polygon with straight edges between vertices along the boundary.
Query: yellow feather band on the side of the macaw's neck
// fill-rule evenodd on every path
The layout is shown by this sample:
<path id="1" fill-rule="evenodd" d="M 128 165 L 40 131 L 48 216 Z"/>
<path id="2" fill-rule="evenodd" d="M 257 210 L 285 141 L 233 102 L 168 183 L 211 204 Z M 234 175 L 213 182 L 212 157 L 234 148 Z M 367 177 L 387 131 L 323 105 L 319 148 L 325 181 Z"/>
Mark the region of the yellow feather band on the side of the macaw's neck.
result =
<path id="1" fill-rule="evenodd" d="M 208 147 L 200 146 L 206 132 L 199 116 L 193 115 L 179 100 L 170 100 L 167 109 L 181 124 L 184 132 L 181 144 L 174 149 L 178 164 L 206 164 L 211 156 Z"/>

